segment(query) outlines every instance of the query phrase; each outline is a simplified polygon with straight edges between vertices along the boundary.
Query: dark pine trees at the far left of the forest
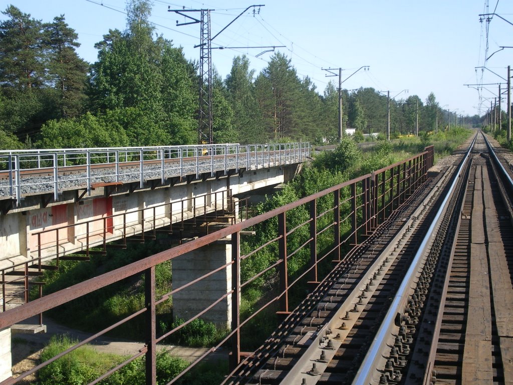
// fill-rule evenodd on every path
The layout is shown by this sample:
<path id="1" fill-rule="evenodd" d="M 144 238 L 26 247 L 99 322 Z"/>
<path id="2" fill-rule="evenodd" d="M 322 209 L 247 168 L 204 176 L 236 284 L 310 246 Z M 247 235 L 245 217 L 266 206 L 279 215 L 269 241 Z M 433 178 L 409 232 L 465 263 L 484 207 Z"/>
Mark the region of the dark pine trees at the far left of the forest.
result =
<path id="1" fill-rule="evenodd" d="M 33 137 L 51 119 L 76 116 L 85 103 L 88 65 L 64 16 L 43 24 L 14 6 L 0 22 L 0 128 Z"/>

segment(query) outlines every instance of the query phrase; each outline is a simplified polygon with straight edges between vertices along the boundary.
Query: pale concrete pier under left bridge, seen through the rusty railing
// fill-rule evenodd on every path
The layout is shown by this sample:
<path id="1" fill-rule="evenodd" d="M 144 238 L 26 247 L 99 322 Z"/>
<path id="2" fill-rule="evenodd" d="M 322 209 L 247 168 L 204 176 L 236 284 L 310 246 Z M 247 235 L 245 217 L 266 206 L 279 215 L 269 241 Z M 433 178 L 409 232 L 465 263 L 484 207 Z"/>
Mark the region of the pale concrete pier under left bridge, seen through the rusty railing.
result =
<path id="1" fill-rule="evenodd" d="M 231 239 L 220 240 L 173 259 L 171 262 L 173 289 L 230 263 L 231 247 Z M 173 294 L 173 317 L 187 320 L 202 312 L 212 303 L 226 296 L 231 290 L 231 279 L 231 266 L 228 265 L 219 272 Z M 231 325 L 231 295 L 223 298 L 200 318 L 217 325 Z"/>

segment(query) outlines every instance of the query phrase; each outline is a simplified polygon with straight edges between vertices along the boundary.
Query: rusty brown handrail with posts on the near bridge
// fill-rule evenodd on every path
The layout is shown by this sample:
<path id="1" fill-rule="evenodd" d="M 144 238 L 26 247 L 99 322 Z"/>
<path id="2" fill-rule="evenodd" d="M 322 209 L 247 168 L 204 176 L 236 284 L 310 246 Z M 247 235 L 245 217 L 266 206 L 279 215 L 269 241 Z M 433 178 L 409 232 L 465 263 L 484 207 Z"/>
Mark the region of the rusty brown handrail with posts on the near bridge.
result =
<path id="1" fill-rule="evenodd" d="M 88 279 L 84 282 L 77 283 L 75 285 L 72 285 L 64 290 L 49 294 L 47 296 L 44 296 L 39 299 L 35 299 L 34 301 L 31 301 L 30 303 L 26 303 L 24 305 L 15 307 L 14 309 L 7 310 L 3 313 L 0 313 L 0 330 L 4 328 L 8 328 L 14 323 L 18 323 L 26 318 L 29 318 L 34 315 L 41 314 L 42 312 L 45 312 L 47 310 L 53 309 L 56 306 L 59 306 L 61 304 L 64 304 L 66 302 L 72 301 L 76 298 L 79 298 L 81 296 L 84 296 L 86 294 L 92 293 L 102 287 L 105 287 L 109 284 L 121 281 L 122 279 L 138 275 L 141 273 L 145 274 L 145 304 L 143 305 L 142 309 L 138 310 L 138 312 L 145 312 L 147 315 L 148 323 L 146 324 L 146 346 L 143 348 L 141 353 L 138 353 L 138 355 L 141 355 L 142 353 L 146 354 L 147 359 L 147 365 L 146 368 L 148 368 L 148 365 L 153 368 L 155 368 L 155 361 L 154 361 L 154 354 L 150 354 L 151 352 L 155 351 L 155 344 L 157 342 L 157 338 L 160 338 L 162 336 L 157 336 L 156 331 L 154 328 L 154 309 L 157 302 L 157 299 L 155 299 L 155 293 L 154 293 L 154 283 L 155 283 L 155 266 L 157 264 L 160 264 L 162 262 L 166 262 L 169 260 L 172 260 L 176 257 L 179 257 L 181 255 L 184 255 L 185 253 L 194 251 L 200 247 L 207 246 L 208 244 L 218 241 L 218 240 L 224 240 L 226 241 L 231 237 L 231 260 L 223 262 L 220 266 L 212 267 L 215 269 L 231 269 L 232 271 L 232 285 L 228 288 L 228 290 L 221 295 L 219 299 L 212 300 L 212 303 L 208 305 L 208 308 L 204 309 L 200 313 L 196 313 L 191 316 L 192 318 L 198 318 L 201 314 L 204 314 L 208 309 L 211 309 L 211 307 L 218 303 L 219 301 L 223 299 L 227 299 L 228 296 L 230 296 L 231 301 L 231 309 L 234 311 L 234 315 L 232 318 L 232 324 L 231 324 L 231 332 L 228 337 L 224 338 L 222 342 L 220 342 L 218 345 L 216 345 L 213 350 L 219 348 L 220 344 L 227 341 L 228 338 L 233 337 L 233 341 L 237 340 L 240 341 L 240 333 L 241 328 L 243 328 L 244 325 L 247 324 L 249 319 L 253 318 L 256 314 L 262 312 L 263 309 L 265 309 L 267 306 L 279 302 L 279 312 L 282 314 L 288 313 L 288 296 L 289 291 L 292 286 L 296 285 L 299 280 L 300 276 L 304 277 L 307 274 L 315 274 L 315 281 L 317 281 L 317 267 L 318 263 L 322 261 L 323 259 L 327 258 L 331 252 L 326 253 L 326 250 L 319 250 L 317 251 L 316 242 L 304 242 L 301 241 L 299 244 L 302 244 L 301 247 L 304 247 L 306 249 L 310 249 L 310 252 L 312 250 L 314 251 L 314 258 L 310 260 L 310 263 L 308 263 L 304 267 L 304 271 L 299 272 L 296 276 L 294 276 L 293 282 L 288 282 L 288 272 L 287 272 L 287 261 L 288 258 L 291 256 L 292 251 L 287 249 L 287 237 L 291 237 L 290 231 L 294 227 L 297 227 L 295 224 L 287 224 L 286 220 L 286 213 L 294 208 L 303 206 L 303 207 L 309 207 L 310 210 L 310 218 L 313 219 L 311 221 L 308 221 L 310 223 L 309 227 L 309 234 L 307 235 L 308 238 L 311 239 L 318 239 L 318 236 L 322 234 L 323 237 L 326 237 L 326 249 L 334 251 L 333 253 L 333 261 L 340 261 L 340 250 L 344 246 L 348 246 L 349 243 L 358 243 L 359 241 L 363 241 L 365 237 L 370 234 L 370 231 L 372 230 L 373 225 L 380 224 L 381 218 L 378 219 L 375 217 L 376 211 L 379 209 L 381 202 L 378 202 L 377 195 L 379 194 L 385 194 L 383 191 L 385 190 L 385 187 L 387 187 L 385 184 L 390 183 L 405 183 L 406 188 L 413 191 L 416 187 L 418 187 L 424 180 L 427 175 L 427 168 L 426 166 L 429 164 L 428 161 L 428 155 L 426 152 L 423 152 L 422 155 L 417 155 L 409 158 L 408 160 L 405 160 L 401 162 L 399 165 L 396 165 L 395 167 L 399 167 L 399 169 L 406 169 L 406 164 L 412 164 L 411 167 L 413 167 L 412 172 L 403 172 L 402 174 L 396 174 L 400 176 L 400 179 L 398 178 L 398 181 L 393 182 L 387 182 L 384 183 L 383 190 L 380 191 L 380 189 L 377 186 L 373 185 L 374 180 L 379 180 L 381 175 L 385 175 L 387 172 L 391 172 L 390 170 L 392 168 L 385 168 L 380 173 L 373 172 L 372 174 L 367 174 L 364 176 L 361 176 L 359 178 L 346 181 L 344 183 L 341 183 L 336 186 L 329 187 L 323 191 L 317 192 L 316 194 L 313 194 L 308 197 L 301 198 L 295 202 L 286 204 L 284 206 L 275 208 L 271 211 L 268 211 L 267 213 L 261 214 L 257 217 L 249 218 L 243 222 L 235 223 L 230 226 L 224 227 L 220 230 L 217 230 L 216 232 L 207 234 L 203 237 L 200 237 L 198 239 L 192 240 L 187 243 L 183 243 L 181 245 L 172 247 L 166 251 L 163 251 L 161 253 L 157 253 L 155 255 L 152 255 L 150 257 L 146 257 L 142 260 L 130 263 L 126 266 L 117 268 L 111 272 L 102 274 L 100 276 Z M 384 178 L 381 178 L 384 179 Z M 411 187 L 411 188 L 410 188 Z M 360 192 L 361 189 L 361 192 Z M 400 195 L 402 194 L 401 190 L 394 189 L 393 194 L 388 193 L 389 196 L 387 197 L 387 201 L 394 201 L 394 199 L 399 199 Z M 346 198 L 346 195 L 347 196 Z M 333 218 L 331 219 L 331 210 L 320 210 L 320 213 L 317 213 L 317 204 L 318 200 L 320 198 L 326 199 L 326 197 L 329 196 L 330 204 L 334 208 L 333 210 Z M 343 207 L 344 206 L 344 207 Z M 358 212 L 356 211 L 358 210 Z M 387 216 L 391 214 L 390 212 L 383 213 L 382 220 L 385 221 L 387 219 Z M 349 215 L 347 215 L 349 214 Z M 321 224 L 319 223 L 320 220 L 326 217 L 326 223 Z M 264 221 L 277 218 L 278 220 L 272 220 L 269 222 L 269 226 L 273 226 L 272 229 L 275 230 L 277 233 L 274 242 L 277 242 L 277 249 L 279 251 L 279 255 L 276 256 L 276 259 L 270 261 L 269 265 L 274 265 L 277 272 L 276 275 L 280 276 L 280 288 L 278 290 L 278 293 L 272 294 L 272 299 L 269 299 L 269 302 L 267 302 L 265 305 L 260 307 L 260 309 L 255 310 L 252 314 L 248 315 L 245 320 L 240 320 L 239 316 L 240 314 L 240 297 L 239 295 L 233 295 L 234 293 L 240 293 L 241 290 L 241 277 L 240 277 L 240 265 L 241 260 L 243 259 L 243 256 L 240 252 L 240 238 L 241 238 L 241 232 L 244 229 L 247 229 L 251 226 L 260 224 Z M 342 219 L 344 218 L 344 219 Z M 331 222 L 333 220 L 334 224 Z M 319 221 L 319 222 L 318 222 Z M 276 223 L 277 222 L 277 223 Z M 305 222 L 306 223 L 306 222 Z M 347 226 L 346 226 L 347 225 Z M 324 226 L 324 227 L 323 227 Z M 324 229 L 330 226 L 330 228 L 333 228 L 333 232 L 327 232 Z M 343 231 L 341 228 L 349 228 L 348 230 Z M 367 231 L 368 230 L 368 231 Z M 346 238 L 347 236 L 347 238 Z M 306 239 L 305 239 L 306 240 Z M 254 245 L 253 247 L 258 247 L 258 245 Z M 290 254 L 287 254 L 290 252 Z M 321 256 L 318 258 L 317 253 Z M 324 254 L 321 254 L 324 253 Z M 247 256 L 248 253 L 246 253 Z M 312 256 L 312 255 L 311 255 Z M 264 266 L 264 269 L 268 268 L 269 266 Z M 198 281 L 200 279 L 204 279 L 206 276 L 211 275 L 212 272 L 207 272 L 201 277 L 195 278 L 194 281 Z M 261 274 L 260 272 L 252 273 L 252 276 Z M 291 277 L 292 278 L 292 277 Z M 245 281 L 247 282 L 251 277 L 247 277 Z M 186 287 L 188 283 L 183 284 L 179 287 L 173 286 L 173 292 L 182 290 Z M 295 286 L 297 287 L 297 286 Z M 160 301 L 160 300 L 159 300 Z M 130 316 L 129 316 L 130 317 Z M 153 318 L 152 318 L 153 317 Z M 110 328 L 110 326 L 109 326 Z M 71 349 L 71 348 L 70 348 Z M 213 351 L 210 349 L 210 351 Z M 241 359 L 241 352 L 240 352 L 240 343 L 234 342 L 233 344 L 233 357 L 236 361 L 235 364 L 238 364 Z M 133 358 L 133 357 L 132 357 Z M 150 362 L 151 360 L 151 362 Z M 125 361 L 128 362 L 128 361 Z M 191 364 L 191 367 L 198 362 L 196 360 L 194 363 Z M 47 364 L 48 361 L 43 362 L 40 364 L 40 367 Z M 120 364 L 119 367 L 116 367 L 113 370 L 119 369 L 122 366 Z M 108 373 L 110 373 L 109 371 Z M 149 370 L 147 369 L 147 374 Z M 27 375 L 28 372 L 22 374 L 21 376 L 17 377 L 16 379 L 7 379 L 8 382 L 3 383 L 14 383 L 22 379 L 24 376 Z M 102 377 L 103 378 L 103 377 Z M 147 377 L 148 378 L 148 377 Z M 175 382 L 175 380 L 178 377 L 175 377 L 171 381 L 171 383 Z M 148 382 L 150 383 L 150 382 Z"/>

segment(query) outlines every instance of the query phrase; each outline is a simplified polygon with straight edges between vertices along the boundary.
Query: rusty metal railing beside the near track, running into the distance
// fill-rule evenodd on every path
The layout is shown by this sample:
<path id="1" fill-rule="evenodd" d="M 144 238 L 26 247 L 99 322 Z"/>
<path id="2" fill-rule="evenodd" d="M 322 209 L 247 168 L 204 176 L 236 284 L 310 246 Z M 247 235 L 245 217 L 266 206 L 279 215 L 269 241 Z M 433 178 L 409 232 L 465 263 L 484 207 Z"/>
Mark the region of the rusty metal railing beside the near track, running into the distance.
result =
<path id="1" fill-rule="evenodd" d="M 0 314 L 1 330 L 125 278 L 141 274 L 144 275 L 145 278 L 145 305 L 142 306 L 141 309 L 129 314 L 124 319 L 108 326 L 104 330 L 95 333 L 93 336 L 82 340 L 65 352 L 38 364 L 35 368 L 24 374 L 16 378 L 4 380 L 0 385 L 16 383 L 45 367 L 50 362 L 139 316 L 145 317 L 145 332 L 144 335 L 141 336 L 144 343 L 141 343 L 140 352 L 132 355 L 124 362 L 116 365 L 116 367 L 90 383 L 97 383 L 134 359 L 145 356 L 146 383 L 155 384 L 155 352 L 157 344 L 181 330 L 194 319 L 204 316 L 216 304 L 225 299 L 229 300 L 232 312 L 230 332 L 219 343 L 209 347 L 205 354 L 192 362 L 187 369 L 173 378 L 168 384 L 174 383 L 182 378 L 185 373 L 194 368 L 204 357 L 222 346 L 229 346 L 232 352 L 230 358 L 231 366 L 235 367 L 243 356 L 241 350 L 241 331 L 247 328 L 250 320 L 266 309 L 274 309 L 270 306 L 277 307 L 278 313 L 280 314 L 289 314 L 289 293 L 292 288 L 297 286 L 302 279 L 309 279 L 310 283 L 321 281 L 323 277 L 319 276 L 318 267 L 322 261 L 328 260 L 329 257 L 335 262 L 340 261 L 340 254 L 343 249 L 347 249 L 347 247 L 358 244 L 365 239 L 374 228 L 379 226 L 390 216 L 394 208 L 397 208 L 409 194 L 426 180 L 427 169 L 431 167 L 432 164 L 432 148 L 427 148 L 426 151 L 419 155 L 381 170 L 374 171 L 372 174 L 367 174 L 330 187 L 317 194 L 273 209 L 268 213 L 235 223 L 194 241 L 170 248 L 164 252 L 117 268 L 114 271 L 88 279 L 65 290 L 49 294 Z M 300 219 L 292 222 L 291 219 L 294 218 Z M 258 226 L 265 226 L 265 228 L 272 233 L 271 236 L 263 239 L 262 244 L 254 245 L 250 251 L 241 254 L 241 232 Z M 230 239 L 231 258 L 229 262 L 212 269 L 212 271 L 189 283 L 179 287 L 173 286 L 171 292 L 160 296 L 160 298 L 156 298 L 155 266 L 169 260 L 172 261 L 185 253 L 198 250 L 201 247 L 222 239 Z M 259 253 L 269 247 L 277 252 L 275 258 L 270 260 L 260 271 L 254 272 L 250 276 L 242 277 L 241 266 L 244 266 L 247 261 L 257 258 Z M 290 262 L 305 256 L 306 262 L 292 276 L 288 271 Z M 164 334 L 157 334 L 155 326 L 155 309 L 157 305 L 172 298 L 174 294 L 192 284 L 207 279 L 223 269 L 229 269 L 232 276 L 229 290 L 227 290 L 226 293 L 221 295 L 218 299 L 213 300 L 212 303 L 205 306 L 202 311 L 189 317 L 188 320 L 180 326 Z M 241 290 L 250 285 L 257 278 L 268 277 L 269 275 L 277 277 L 276 282 L 279 286 L 279 290 L 271 292 L 266 303 L 260 305 L 257 310 L 241 320 L 241 299 L 239 296 Z"/>

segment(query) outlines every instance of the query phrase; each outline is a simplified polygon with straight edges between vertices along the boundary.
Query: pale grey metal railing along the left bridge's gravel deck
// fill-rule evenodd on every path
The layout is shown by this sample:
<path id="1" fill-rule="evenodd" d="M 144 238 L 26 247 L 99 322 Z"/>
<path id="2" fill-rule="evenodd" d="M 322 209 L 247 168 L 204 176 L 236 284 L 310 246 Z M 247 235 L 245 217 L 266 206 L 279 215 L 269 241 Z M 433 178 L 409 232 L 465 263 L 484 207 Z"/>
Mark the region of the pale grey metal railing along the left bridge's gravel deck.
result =
<path id="1" fill-rule="evenodd" d="M 25 195 L 53 192 L 57 201 L 64 189 L 87 188 L 90 194 L 95 183 L 139 181 L 142 188 L 147 180 L 164 184 L 170 177 L 282 166 L 309 156 L 308 142 L 3 150 L 0 198 L 19 205 Z M 48 172 L 43 176 L 41 171 Z"/>

